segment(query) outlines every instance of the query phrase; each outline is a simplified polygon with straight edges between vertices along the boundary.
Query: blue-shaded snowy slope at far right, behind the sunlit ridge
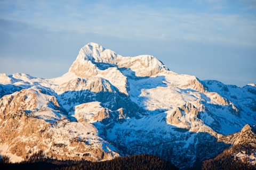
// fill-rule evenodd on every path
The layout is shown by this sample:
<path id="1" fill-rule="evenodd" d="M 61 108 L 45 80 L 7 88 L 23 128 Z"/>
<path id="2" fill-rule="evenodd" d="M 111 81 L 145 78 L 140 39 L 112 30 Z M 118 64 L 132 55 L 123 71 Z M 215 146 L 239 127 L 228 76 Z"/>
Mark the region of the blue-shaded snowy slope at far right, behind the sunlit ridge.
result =
<path id="1" fill-rule="evenodd" d="M 245 86 L 243 88 L 225 85 L 219 81 L 205 80 L 203 81 L 205 86 L 210 92 L 217 92 L 222 98 L 227 99 L 229 104 L 218 108 L 217 102 L 213 102 L 216 107 L 210 107 L 212 118 L 215 118 L 215 122 L 218 122 L 222 128 L 217 132 L 222 134 L 230 134 L 241 130 L 241 128 L 249 123 L 255 124 L 256 106 L 256 93 L 253 92 L 253 87 Z M 213 99 L 211 99 L 213 100 Z M 211 102 L 207 102 L 211 103 Z M 206 105 L 206 107 L 209 105 Z M 210 105 L 214 106 L 214 105 Z M 207 122 L 207 121 L 206 121 Z M 217 129 L 215 129 L 217 130 Z"/>

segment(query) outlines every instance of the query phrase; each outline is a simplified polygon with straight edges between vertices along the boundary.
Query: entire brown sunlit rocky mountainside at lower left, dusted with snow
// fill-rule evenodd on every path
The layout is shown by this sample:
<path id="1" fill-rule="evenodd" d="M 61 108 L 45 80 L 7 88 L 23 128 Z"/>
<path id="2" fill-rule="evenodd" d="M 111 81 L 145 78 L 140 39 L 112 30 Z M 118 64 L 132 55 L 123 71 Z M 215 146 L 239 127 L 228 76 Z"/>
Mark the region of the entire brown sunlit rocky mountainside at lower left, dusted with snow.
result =
<path id="1" fill-rule="evenodd" d="M 1 150 L 12 162 L 26 160 L 39 150 L 57 159 L 98 161 L 119 155 L 113 146 L 106 149 L 110 145 L 97 136 L 93 125 L 65 120 L 54 96 L 23 89 L 0 100 Z"/>

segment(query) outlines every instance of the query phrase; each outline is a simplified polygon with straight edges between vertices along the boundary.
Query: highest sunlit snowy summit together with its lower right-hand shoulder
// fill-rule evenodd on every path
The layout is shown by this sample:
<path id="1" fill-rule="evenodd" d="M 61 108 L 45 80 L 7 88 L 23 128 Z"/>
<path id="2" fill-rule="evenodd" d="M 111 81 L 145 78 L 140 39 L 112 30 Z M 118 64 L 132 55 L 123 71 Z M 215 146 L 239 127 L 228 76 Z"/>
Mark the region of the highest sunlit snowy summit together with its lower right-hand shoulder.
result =
<path id="1" fill-rule="evenodd" d="M 123 57 L 97 43 L 89 43 L 79 50 L 69 72 L 73 72 L 79 77 L 87 78 L 95 76 L 109 67 L 131 69 L 138 77 L 150 77 L 159 72 L 169 70 L 154 56 Z"/>

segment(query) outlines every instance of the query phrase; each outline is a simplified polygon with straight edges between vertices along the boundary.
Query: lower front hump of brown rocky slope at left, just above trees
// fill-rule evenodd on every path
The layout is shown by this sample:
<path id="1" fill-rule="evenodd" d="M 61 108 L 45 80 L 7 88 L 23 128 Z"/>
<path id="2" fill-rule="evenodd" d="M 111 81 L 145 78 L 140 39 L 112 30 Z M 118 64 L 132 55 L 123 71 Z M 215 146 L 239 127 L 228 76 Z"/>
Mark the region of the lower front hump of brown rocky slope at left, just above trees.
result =
<path id="1" fill-rule="evenodd" d="M 107 150 L 110 145 L 97 137 L 97 130 L 86 122 L 61 121 L 52 126 L 42 119 L 22 115 L 3 123 L 0 137 L 2 151 L 12 162 L 26 160 L 39 150 L 48 157 L 64 160 L 99 161 L 119 156 L 114 148 Z"/>

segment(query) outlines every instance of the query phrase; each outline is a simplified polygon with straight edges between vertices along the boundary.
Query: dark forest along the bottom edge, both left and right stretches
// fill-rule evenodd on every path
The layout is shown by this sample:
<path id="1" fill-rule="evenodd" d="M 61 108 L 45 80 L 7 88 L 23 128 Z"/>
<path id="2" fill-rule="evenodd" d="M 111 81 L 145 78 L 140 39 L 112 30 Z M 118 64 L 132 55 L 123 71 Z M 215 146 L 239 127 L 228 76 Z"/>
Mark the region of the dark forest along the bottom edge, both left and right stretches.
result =
<path id="1" fill-rule="evenodd" d="M 113 160 L 107 160 L 104 162 L 89 162 L 87 160 L 75 161 L 75 160 L 57 160 L 47 158 L 43 155 L 42 151 L 32 155 L 28 160 L 21 163 L 10 163 L 9 158 L 3 156 L 0 160 L 0 169 L 53 169 L 53 170 L 76 170 L 76 169 L 88 169 L 88 170 L 133 170 L 133 169 L 178 169 L 174 165 L 166 162 L 162 158 L 151 155 L 135 155 L 118 157 Z M 193 169 L 193 168 L 191 168 Z M 198 168 L 195 168 L 198 169 Z M 200 169 L 200 168 L 199 168 Z M 256 170 L 249 164 L 242 163 L 241 161 L 234 160 L 229 154 L 221 154 L 214 159 L 205 160 L 202 164 L 202 170 Z"/>

